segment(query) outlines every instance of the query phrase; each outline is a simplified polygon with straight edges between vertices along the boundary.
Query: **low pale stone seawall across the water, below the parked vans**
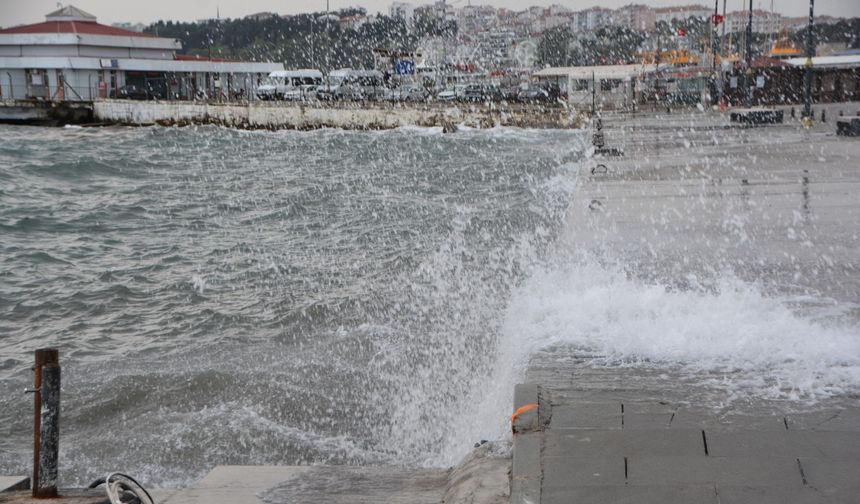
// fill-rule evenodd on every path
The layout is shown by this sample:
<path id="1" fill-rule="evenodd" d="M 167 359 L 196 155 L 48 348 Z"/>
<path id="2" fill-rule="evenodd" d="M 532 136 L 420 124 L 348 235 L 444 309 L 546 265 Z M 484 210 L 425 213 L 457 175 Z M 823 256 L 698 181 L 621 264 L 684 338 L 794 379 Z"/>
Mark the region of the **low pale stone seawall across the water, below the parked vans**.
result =
<path id="1" fill-rule="evenodd" d="M 242 129 L 393 129 L 403 126 L 578 128 L 581 116 L 560 105 L 390 103 L 193 103 L 100 100 L 97 122 L 128 125 L 217 124 Z"/>

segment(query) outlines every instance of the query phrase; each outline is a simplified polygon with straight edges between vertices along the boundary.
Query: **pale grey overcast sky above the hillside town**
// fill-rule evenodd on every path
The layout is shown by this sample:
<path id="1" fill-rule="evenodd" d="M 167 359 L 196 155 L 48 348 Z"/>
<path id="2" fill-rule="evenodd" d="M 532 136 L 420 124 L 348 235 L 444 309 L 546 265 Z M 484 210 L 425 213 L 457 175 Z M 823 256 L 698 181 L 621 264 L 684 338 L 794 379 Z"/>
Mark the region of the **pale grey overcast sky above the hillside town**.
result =
<path id="1" fill-rule="evenodd" d="M 325 10 L 326 0 L 75 0 L 71 3 L 81 9 L 98 16 L 102 23 L 120 21 L 150 23 L 159 19 L 194 21 L 201 18 L 215 17 L 220 10 L 221 17 L 242 17 L 260 11 L 271 11 L 279 14 L 295 14 L 308 10 Z M 360 5 L 369 12 L 387 12 L 390 0 L 330 0 L 331 8 Z M 449 0 L 455 6 L 465 5 L 469 0 Z M 722 10 L 722 0 L 720 10 Z M 743 3 L 749 0 L 727 0 L 728 10 L 739 10 Z M 633 0 L 473 0 L 474 4 L 491 4 L 497 7 L 523 9 L 527 5 L 561 4 L 565 7 L 580 10 L 594 5 L 603 7 L 620 7 Z M 756 8 L 770 10 L 771 0 L 753 0 Z M 413 4 L 430 3 L 416 1 Z M 668 5 L 685 5 L 703 3 L 713 5 L 713 0 L 697 2 L 695 0 L 637 0 L 655 7 Z M 808 0 L 772 0 L 775 11 L 788 16 L 804 16 L 809 13 Z M 57 8 L 56 0 L 0 0 L 0 26 L 8 27 L 24 23 L 44 21 L 45 14 Z M 855 17 L 860 16 L 860 0 L 818 0 L 815 3 L 816 14 Z"/>

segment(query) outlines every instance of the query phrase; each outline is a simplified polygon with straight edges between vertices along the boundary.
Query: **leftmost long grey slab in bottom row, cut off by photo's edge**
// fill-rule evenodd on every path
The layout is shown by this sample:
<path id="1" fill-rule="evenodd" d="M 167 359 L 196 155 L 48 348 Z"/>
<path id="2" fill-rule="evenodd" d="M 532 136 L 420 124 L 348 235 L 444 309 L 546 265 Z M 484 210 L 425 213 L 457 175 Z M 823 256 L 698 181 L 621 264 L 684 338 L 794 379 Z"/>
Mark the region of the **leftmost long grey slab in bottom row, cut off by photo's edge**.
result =
<path id="1" fill-rule="evenodd" d="M 713 485 L 629 485 L 544 490 L 541 502 L 543 504 L 718 504 L 719 501 Z"/>

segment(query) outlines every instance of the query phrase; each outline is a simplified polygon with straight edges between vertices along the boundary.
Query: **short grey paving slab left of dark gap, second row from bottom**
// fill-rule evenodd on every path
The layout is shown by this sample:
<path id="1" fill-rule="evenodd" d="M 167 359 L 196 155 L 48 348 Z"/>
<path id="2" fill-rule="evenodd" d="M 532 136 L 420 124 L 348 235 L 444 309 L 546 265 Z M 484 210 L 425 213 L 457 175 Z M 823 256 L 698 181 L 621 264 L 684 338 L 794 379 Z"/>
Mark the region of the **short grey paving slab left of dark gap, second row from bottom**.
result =
<path id="1" fill-rule="evenodd" d="M 581 486 L 624 485 L 624 457 L 544 457 L 543 492 Z"/>

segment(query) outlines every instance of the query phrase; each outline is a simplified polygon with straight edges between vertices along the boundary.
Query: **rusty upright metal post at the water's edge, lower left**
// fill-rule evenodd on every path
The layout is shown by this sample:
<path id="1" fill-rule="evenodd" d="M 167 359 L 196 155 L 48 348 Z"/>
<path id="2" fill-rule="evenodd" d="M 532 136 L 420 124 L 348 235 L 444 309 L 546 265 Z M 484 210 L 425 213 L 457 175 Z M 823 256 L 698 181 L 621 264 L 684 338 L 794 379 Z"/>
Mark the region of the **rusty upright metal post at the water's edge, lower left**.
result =
<path id="1" fill-rule="evenodd" d="M 33 497 L 56 497 L 60 447 L 60 352 L 56 348 L 36 350 L 33 385 Z"/>

